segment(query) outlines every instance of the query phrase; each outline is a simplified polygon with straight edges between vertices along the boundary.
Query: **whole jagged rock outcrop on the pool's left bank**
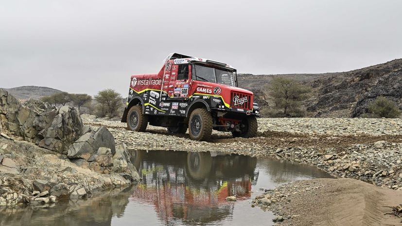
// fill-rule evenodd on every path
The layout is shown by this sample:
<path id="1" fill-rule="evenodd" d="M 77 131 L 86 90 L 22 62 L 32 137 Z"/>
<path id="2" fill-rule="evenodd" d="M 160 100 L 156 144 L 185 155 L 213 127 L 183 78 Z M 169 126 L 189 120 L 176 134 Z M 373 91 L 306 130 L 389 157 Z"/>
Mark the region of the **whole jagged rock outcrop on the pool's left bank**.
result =
<path id="1" fill-rule="evenodd" d="M 124 143 L 75 108 L 19 103 L 0 89 L 0 207 L 52 206 L 140 179 Z"/>

